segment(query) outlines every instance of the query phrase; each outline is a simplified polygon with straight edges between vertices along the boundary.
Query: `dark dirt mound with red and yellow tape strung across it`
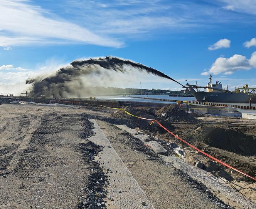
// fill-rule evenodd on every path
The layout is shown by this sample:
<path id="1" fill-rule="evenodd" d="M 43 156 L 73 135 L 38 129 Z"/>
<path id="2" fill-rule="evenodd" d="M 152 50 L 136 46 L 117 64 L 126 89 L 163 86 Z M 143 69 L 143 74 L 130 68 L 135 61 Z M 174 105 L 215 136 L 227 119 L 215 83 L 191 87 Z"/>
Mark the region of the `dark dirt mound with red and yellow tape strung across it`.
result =
<path id="1" fill-rule="evenodd" d="M 135 116 L 139 116 L 142 118 L 148 119 L 158 119 L 155 113 L 150 108 L 133 108 L 131 106 L 126 106 L 123 110 L 127 111 L 130 114 Z M 140 129 L 147 129 L 153 133 L 166 133 L 164 129 L 162 129 L 157 123 L 153 123 L 150 125 L 149 120 L 139 119 L 134 116 L 127 114 L 125 111 L 119 110 L 115 113 L 112 113 L 113 118 L 118 118 L 119 120 L 123 119 L 123 124 L 126 124 L 130 128 L 140 128 Z M 168 123 L 167 121 L 159 120 L 158 121 L 165 126 L 167 129 L 172 130 L 173 126 Z"/>

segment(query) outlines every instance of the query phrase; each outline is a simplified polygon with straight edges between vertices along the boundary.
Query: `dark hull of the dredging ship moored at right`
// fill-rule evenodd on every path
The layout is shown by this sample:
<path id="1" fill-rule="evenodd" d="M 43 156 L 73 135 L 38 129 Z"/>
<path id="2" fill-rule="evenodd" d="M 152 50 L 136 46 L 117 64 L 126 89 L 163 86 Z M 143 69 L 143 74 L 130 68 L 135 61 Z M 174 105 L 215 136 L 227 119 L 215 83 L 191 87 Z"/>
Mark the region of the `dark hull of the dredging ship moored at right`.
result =
<path id="1" fill-rule="evenodd" d="M 191 91 L 197 101 L 219 102 L 219 103 L 256 103 L 256 95 L 235 92 L 196 92 Z"/>

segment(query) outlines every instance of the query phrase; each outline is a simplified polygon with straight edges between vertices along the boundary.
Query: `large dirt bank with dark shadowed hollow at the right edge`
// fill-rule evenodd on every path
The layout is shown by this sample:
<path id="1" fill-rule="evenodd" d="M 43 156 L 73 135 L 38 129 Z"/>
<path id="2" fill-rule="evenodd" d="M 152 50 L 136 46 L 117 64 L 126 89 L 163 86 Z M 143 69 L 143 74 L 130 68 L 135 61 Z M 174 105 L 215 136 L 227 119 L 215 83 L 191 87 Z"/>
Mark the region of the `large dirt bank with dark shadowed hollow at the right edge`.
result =
<path id="1" fill-rule="evenodd" d="M 213 157 L 255 176 L 256 136 L 244 133 L 244 127 L 201 123 L 182 131 L 180 136 Z M 239 175 L 234 173 L 232 176 Z"/>

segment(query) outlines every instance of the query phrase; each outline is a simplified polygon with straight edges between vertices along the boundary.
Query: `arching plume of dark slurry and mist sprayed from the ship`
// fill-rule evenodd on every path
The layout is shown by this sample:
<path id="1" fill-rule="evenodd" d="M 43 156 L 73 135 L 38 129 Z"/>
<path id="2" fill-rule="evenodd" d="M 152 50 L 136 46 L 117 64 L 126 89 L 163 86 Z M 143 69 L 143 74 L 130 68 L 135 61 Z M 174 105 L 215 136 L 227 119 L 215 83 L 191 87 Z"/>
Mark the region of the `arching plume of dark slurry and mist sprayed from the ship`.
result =
<path id="1" fill-rule="evenodd" d="M 120 79 L 118 75 L 115 77 L 115 73 L 125 74 L 132 70 L 175 81 L 161 71 L 140 63 L 106 56 L 105 58 L 73 61 L 70 65 L 59 69 L 55 74 L 27 79 L 26 84 L 31 84 L 29 91 L 30 95 L 33 96 L 67 97 L 77 95 L 77 91 L 86 91 L 89 83 L 93 83 L 92 78 L 100 79 L 102 83 L 105 81 L 109 85 L 114 79 Z M 178 81 L 175 82 L 179 83 Z"/>

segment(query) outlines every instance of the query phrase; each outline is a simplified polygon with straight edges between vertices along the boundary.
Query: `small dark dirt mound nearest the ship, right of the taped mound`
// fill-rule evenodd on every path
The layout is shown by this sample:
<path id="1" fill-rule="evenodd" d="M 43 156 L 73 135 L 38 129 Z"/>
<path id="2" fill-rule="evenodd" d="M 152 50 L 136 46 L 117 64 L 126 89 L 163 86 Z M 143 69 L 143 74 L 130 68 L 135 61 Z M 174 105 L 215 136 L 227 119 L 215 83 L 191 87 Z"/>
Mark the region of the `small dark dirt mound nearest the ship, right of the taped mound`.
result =
<path id="1" fill-rule="evenodd" d="M 158 109 L 155 114 L 166 121 L 197 121 L 193 113 L 179 108 L 177 105 L 167 105 Z"/>

